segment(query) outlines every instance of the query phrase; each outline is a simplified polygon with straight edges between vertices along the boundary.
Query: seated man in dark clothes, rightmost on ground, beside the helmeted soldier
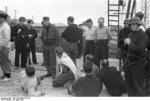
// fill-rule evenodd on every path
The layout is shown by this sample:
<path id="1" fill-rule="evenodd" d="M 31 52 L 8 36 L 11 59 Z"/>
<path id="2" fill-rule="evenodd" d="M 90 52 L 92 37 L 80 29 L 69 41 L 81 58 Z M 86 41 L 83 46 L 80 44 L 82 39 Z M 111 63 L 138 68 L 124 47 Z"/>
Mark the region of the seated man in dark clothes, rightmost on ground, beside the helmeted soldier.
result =
<path id="1" fill-rule="evenodd" d="M 115 67 L 109 67 L 108 61 L 102 62 L 99 78 L 111 96 L 121 96 L 125 93 L 125 84 L 121 73 Z"/>

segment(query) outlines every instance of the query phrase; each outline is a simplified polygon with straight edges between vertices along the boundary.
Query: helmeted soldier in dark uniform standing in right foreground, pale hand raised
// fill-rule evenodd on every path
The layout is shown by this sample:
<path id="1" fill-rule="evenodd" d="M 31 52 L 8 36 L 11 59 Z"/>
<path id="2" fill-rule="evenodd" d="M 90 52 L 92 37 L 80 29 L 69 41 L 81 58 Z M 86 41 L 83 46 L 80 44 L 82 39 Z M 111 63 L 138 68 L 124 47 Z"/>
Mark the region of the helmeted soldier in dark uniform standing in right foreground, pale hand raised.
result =
<path id="1" fill-rule="evenodd" d="M 139 28 L 140 25 L 138 17 L 131 18 L 131 34 L 124 40 L 127 45 L 127 62 L 124 71 L 128 96 L 145 96 L 144 67 L 148 36 Z"/>

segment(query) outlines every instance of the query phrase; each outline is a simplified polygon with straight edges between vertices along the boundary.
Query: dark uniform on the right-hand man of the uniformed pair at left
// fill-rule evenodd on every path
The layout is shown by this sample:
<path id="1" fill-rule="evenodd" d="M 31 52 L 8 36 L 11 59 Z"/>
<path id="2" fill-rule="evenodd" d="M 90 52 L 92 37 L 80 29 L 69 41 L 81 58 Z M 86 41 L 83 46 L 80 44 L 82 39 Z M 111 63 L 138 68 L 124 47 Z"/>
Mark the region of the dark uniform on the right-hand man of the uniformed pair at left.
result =
<path id="1" fill-rule="evenodd" d="M 36 50 L 35 38 L 37 38 L 36 30 L 33 28 L 29 29 L 29 35 L 32 35 L 32 37 L 29 39 L 29 52 L 32 53 L 32 62 L 37 63 L 36 53 L 35 53 Z"/>

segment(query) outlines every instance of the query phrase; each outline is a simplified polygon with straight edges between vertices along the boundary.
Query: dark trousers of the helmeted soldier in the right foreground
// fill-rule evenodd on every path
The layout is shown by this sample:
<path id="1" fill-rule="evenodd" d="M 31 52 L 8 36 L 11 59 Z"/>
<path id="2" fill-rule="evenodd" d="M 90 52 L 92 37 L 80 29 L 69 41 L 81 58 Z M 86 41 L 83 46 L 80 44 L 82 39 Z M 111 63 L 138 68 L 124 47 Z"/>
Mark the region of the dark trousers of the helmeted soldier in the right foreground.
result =
<path id="1" fill-rule="evenodd" d="M 144 65 L 139 63 L 125 69 L 125 80 L 129 96 L 145 96 L 143 68 Z"/>

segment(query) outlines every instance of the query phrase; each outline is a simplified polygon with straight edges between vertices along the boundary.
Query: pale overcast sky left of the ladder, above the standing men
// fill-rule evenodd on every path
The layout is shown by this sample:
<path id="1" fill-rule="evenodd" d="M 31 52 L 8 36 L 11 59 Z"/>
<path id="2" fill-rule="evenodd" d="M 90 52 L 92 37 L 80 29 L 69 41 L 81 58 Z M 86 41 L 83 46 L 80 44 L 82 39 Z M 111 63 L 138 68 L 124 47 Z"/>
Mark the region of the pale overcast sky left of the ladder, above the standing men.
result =
<path id="1" fill-rule="evenodd" d="M 68 16 L 74 16 L 77 24 L 92 18 L 97 25 L 97 18 L 107 19 L 107 0 L 0 0 L 0 9 L 8 7 L 8 14 L 14 18 L 25 16 L 41 22 L 43 16 L 49 16 L 51 22 L 66 24 Z"/>

